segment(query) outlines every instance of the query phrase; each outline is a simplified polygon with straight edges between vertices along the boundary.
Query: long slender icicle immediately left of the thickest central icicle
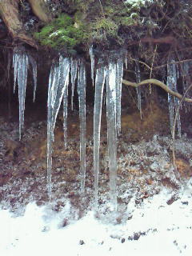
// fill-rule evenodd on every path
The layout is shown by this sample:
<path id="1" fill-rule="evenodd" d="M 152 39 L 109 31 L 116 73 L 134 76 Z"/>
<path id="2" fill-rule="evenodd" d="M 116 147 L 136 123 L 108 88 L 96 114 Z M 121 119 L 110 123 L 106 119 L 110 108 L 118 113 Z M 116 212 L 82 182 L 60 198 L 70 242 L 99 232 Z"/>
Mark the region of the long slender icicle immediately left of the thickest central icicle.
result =
<path id="1" fill-rule="evenodd" d="M 98 61 L 102 65 L 102 61 Z M 102 95 L 106 78 L 106 67 L 101 66 L 96 71 L 95 93 L 94 93 L 94 191 L 95 208 L 98 208 L 98 173 L 99 173 L 99 149 L 100 149 L 100 130 L 102 118 Z"/>

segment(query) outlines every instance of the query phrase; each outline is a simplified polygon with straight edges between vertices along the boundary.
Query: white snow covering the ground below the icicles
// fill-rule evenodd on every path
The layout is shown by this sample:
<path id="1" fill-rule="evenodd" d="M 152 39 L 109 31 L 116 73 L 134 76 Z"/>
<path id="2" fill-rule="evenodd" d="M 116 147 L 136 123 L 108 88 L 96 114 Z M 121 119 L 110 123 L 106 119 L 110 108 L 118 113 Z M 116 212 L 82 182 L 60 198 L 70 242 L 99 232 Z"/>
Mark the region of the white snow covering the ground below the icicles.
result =
<path id="1" fill-rule="evenodd" d="M 26 206 L 23 216 L 0 210 L 0 255 L 185 255 L 192 254 L 192 182 L 178 191 L 178 200 L 168 205 L 172 190 L 164 188 L 136 208 L 127 207 L 130 220 L 111 224 L 105 214 L 94 211 L 70 218 L 70 202 L 60 212 L 51 205 Z M 64 227 L 63 227 L 64 226 Z M 137 240 L 138 238 L 138 240 Z"/>

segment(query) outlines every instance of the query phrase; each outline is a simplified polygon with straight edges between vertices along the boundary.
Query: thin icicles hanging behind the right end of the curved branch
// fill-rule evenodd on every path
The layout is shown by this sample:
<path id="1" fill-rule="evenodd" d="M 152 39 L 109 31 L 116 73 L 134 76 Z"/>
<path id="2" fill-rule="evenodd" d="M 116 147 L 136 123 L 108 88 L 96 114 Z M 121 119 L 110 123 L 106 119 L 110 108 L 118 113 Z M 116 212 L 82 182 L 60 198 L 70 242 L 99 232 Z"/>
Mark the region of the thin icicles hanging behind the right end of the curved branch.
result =
<path id="1" fill-rule="evenodd" d="M 167 64 L 167 86 L 170 90 L 177 91 L 177 69 L 174 59 L 169 61 L 170 64 Z M 172 132 L 174 126 L 174 114 L 178 109 L 179 101 L 178 98 L 174 98 L 172 95 L 168 94 L 169 110 L 170 110 L 170 130 Z M 181 137 L 181 120 L 180 114 L 178 114 L 178 136 Z"/>

